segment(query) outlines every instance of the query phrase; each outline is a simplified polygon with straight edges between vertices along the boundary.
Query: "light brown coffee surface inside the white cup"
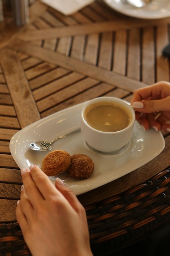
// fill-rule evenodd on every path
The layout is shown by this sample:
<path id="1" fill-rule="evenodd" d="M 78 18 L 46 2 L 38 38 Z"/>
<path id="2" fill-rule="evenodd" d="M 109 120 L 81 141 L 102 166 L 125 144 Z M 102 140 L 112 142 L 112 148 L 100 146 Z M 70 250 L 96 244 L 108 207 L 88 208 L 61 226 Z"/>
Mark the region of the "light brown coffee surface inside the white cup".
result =
<path id="1" fill-rule="evenodd" d="M 86 108 L 84 119 L 96 130 L 117 132 L 130 124 L 131 115 L 124 106 L 118 103 L 100 101 Z"/>

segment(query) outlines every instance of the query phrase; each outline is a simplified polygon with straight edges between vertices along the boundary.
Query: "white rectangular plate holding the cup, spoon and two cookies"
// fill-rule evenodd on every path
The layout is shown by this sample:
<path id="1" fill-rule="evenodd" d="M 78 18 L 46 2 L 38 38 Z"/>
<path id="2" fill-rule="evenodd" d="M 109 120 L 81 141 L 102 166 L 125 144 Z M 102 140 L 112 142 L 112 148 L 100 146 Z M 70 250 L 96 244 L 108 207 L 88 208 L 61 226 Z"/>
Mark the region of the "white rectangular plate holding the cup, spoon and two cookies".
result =
<path id="1" fill-rule="evenodd" d="M 66 108 L 49 117 L 45 117 L 17 132 L 10 141 L 10 151 L 19 168 L 29 168 L 31 164 L 41 167 L 42 160 L 49 153 L 33 151 L 29 148 L 32 142 L 46 139 L 52 141 L 80 126 L 80 112 L 84 103 Z M 76 195 L 85 193 L 108 182 L 118 179 L 148 163 L 161 153 L 165 141 L 161 132 L 144 131 L 135 121 L 132 139 L 121 152 L 115 155 L 102 155 L 94 152 L 83 141 L 81 132 L 70 135 L 53 144 L 52 150 L 65 150 L 70 155 L 86 154 L 95 164 L 95 170 L 86 180 L 76 180 L 67 173 L 58 175 Z M 52 182 L 55 177 L 49 177 Z"/>

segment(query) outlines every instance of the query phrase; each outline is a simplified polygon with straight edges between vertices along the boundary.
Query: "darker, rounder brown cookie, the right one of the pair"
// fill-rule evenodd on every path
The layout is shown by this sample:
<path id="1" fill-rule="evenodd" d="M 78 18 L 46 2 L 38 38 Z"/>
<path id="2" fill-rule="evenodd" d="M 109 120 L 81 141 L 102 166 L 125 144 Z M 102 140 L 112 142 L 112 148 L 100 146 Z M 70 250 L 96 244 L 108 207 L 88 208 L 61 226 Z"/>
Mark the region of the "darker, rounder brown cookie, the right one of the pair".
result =
<path id="1" fill-rule="evenodd" d="M 84 154 L 75 154 L 71 156 L 71 165 L 68 167 L 69 176 L 84 180 L 90 177 L 95 168 L 93 160 Z"/>

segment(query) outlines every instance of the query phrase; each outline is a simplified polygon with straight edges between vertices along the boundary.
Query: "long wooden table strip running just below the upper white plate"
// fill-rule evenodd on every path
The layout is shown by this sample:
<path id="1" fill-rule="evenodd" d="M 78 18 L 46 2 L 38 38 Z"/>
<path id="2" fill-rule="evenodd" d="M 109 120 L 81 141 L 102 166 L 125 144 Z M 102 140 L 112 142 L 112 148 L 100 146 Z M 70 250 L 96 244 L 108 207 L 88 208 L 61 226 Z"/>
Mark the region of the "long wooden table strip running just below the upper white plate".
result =
<path id="1" fill-rule="evenodd" d="M 170 21 L 170 18 L 163 19 L 161 21 L 157 20 L 142 20 L 142 27 L 148 27 L 148 23 L 150 26 L 156 26 L 161 24 L 167 24 Z M 71 27 L 59 27 L 59 28 L 49 28 L 42 30 L 24 30 L 18 34 L 17 38 L 25 41 L 32 40 L 40 40 L 40 39 L 48 39 L 48 38 L 56 38 L 63 36 L 75 36 L 75 35 L 83 35 L 83 34 L 96 34 L 99 32 L 109 32 L 109 31 L 117 31 L 119 29 L 130 29 L 131 27 L 140 28 L 141 20 L 137 19 L 122 19 L 119 21 L 103 21 L 103 22 L 94 22 L 91 24 L 83 24 L 83 25 L 73 25 Z"/>

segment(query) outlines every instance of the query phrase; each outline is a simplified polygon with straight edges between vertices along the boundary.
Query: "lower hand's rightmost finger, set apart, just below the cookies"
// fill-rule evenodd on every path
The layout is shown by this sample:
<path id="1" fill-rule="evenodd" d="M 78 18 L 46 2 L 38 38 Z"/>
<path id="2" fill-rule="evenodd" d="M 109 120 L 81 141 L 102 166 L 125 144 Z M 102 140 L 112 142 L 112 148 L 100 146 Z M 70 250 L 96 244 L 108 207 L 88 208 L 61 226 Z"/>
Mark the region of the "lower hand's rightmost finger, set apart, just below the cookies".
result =
<path id="1" fill-rule="evenodd" d="M 81 204 L 74 192 L 70 188 L 68 188 L 68 186 L 65 186 L 62 180 L 60 180 L 59 178 L 56 178 L 55 180 L 55 187 L 62 193 L 62 195 L 66 198 L 66 200 L 73 207 L 73 209 L 77 211 Z"/>

